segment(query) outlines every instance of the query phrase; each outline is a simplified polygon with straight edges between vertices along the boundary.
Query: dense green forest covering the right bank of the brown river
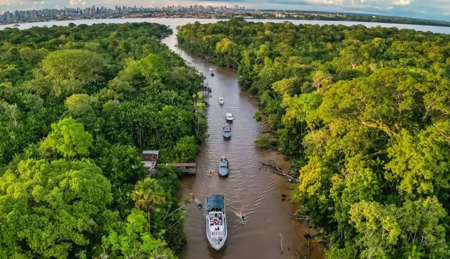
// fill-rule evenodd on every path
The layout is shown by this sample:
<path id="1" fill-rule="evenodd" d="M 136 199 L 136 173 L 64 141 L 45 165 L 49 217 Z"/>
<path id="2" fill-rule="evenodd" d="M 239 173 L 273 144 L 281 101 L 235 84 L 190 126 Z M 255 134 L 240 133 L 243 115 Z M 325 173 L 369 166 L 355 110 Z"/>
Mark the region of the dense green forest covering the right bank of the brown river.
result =
<path id="1" fill-rule="evenodd" d="M 328 259 L 450 258 L 450 35 L 232 18 L 177 37 L 258 97 Z"/>

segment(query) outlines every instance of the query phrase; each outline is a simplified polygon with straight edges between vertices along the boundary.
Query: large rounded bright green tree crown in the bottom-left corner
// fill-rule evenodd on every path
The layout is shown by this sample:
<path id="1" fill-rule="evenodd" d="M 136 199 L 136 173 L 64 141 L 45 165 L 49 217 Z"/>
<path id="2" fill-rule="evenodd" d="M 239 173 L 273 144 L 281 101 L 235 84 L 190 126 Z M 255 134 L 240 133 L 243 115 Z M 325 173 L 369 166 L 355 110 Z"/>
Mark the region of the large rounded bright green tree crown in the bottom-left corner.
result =
<path id="1" fill-rule="evenodd" d="M 93 163 L 24 160 L 0 182 L 2 258 L 64 259 L 114 225 L 111 186 Z"/>

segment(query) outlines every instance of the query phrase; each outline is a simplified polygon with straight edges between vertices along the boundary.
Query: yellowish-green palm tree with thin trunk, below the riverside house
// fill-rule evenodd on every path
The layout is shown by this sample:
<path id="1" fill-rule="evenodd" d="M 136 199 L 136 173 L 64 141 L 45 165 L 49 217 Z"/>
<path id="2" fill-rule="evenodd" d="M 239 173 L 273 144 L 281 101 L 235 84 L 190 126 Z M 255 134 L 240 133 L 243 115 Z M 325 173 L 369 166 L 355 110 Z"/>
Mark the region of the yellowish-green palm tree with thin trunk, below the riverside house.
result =
<path id="1" fill-rule="evenodd" d="M 145 178 L 136 183 L 131 198 L 134 200 L 136 208 L 147 213 L 148 232 L 150 232 L 150 212 L 153 211 L 155 205 L 165 202 L 164 189 L 155 179 Z"/>

